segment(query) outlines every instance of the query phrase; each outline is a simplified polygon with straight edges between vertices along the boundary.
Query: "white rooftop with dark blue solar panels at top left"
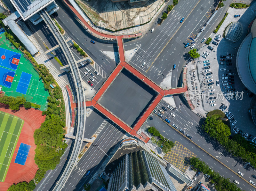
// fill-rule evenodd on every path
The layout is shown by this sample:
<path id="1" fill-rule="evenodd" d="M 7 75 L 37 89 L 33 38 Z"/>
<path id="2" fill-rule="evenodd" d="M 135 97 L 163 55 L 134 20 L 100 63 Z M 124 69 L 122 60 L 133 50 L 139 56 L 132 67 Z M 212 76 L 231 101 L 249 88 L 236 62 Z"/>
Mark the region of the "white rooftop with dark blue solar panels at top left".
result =
<path id="1" fill-rule="evenodd" d="M 26 20 L 54 0 L 10 0 L 23 20 Z"/>

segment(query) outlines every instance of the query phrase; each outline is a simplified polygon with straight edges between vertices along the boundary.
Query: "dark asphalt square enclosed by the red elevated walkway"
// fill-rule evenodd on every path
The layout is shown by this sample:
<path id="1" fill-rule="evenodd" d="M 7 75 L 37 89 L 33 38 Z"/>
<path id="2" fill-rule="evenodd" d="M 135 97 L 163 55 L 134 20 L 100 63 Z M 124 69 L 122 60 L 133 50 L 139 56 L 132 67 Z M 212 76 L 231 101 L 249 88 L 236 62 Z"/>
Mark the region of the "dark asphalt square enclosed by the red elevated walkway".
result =
<path id="1" fill-rule="evenodd" d="M 155 97 L 153 89 L 123 69 L 99 103 L 133 127 Z"/>

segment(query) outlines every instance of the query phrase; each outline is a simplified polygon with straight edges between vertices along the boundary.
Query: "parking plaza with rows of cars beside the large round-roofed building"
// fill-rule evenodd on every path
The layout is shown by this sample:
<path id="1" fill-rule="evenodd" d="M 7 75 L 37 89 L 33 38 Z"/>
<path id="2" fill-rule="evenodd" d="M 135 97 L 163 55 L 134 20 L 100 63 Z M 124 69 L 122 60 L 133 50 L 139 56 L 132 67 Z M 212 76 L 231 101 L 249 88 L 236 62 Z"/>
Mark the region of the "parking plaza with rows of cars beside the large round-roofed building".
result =
<path id="1" fill-rule="evenodd" d="M 191 100 L 195 105 L 196 110 L 199 111 L 201 107 L 201 113 L 206 114 L 213 109 L 220 109 L 221 104 L 224 103 L 225 106 L 227 106 L 225 110 L 228 109 L 229 112 L 234 115 L 234 121 L 237 121 L 235 125 L 231 125 L 231 132 L 234 133 L 232 129 L 234 126 L 237 126 L 240 130 L 243 130 L 244 133 L 248 133 L 249 135 L 252 134 L 255 136 L 255 124 L 253 123 L 252 116 L 248 110 L 253 94 L 245 88 L 240 78 L 238 77 L 236 70 L 237 50 L 247 33 L 246 28 L 248 28 L 250 22 L 255 16 L 255 14 L 252 14 L 251 9 L 253 8 L 250 7 L 249 9 L 243 10 L 233 8 L 228 9 L 229 14 L 217 33 L 221 36 L 220 41 L 214 40 L 217 34 L 212 33 L 212 35 L 210 35 L 212 41 L 219 43 L 218 45 L 215 45 L 212 42 L 210 42 L 209 45 L 203 44 L 201 43 L 201 40 L 203 38 L 206 38 L 207 40 L 208 37 L 201 37 L 200 42 L 198 42 L 195 47 L 198 49 L 198 52 L 201 56 L 197 60 L 196 65 L 194 66 L 194 70 L 193 67 L 189 66 L 191 71 L 188 72 L 187 78 L 189 80 L 189 91 L 191 91 L 191 94 L 194 96 L 194 98 L 191 98 Z M 240 14 L 241 16 L 235 18 L 234 15 L 236 14 Z M 234 21 L 241 22 L 244 27 L 243 34 L 237 42 L 225 39 L 222 36 L 224 29 Z M 213 50 L 210 50 L 208 46 L 211 46 Z M 204 58 L 202 55 L 207 56 L 207 58 Z M 231 56 L 232 58 L 227 59 L 227 56 Z M 206 62 L 208 60 L 209 62 Z M 231 62 L 227 62 L 227 60 L 231 60 Z M 206 63 L 204 63 L 204 61 Z M 210 65 L 208 65 L 209 63 Z M 232 63 L 232 65 L 230 63 Z M 216 84 L 217 81 L 219 81 L 220 85 Z M 209 90 L 214 94 L 209 95 Z M 230 92 L 231 90 L 234 91 L 235 95 L 233 95 L 233 93 L 230 95 L 228 94 L 228 91 Z M 203 96 L 201 93 L 203 93 Z M 245 123 L 246 126 L 244 126 Z"/>

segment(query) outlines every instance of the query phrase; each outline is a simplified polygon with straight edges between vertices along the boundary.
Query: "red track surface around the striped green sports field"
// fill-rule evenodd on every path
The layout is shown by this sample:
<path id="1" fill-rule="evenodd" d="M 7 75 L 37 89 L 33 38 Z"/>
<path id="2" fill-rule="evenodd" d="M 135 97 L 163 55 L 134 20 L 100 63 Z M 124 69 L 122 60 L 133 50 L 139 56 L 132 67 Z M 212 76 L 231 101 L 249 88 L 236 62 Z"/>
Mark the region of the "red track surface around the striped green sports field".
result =
<path id="1" fill-rule="evenodd" d="M 19 111 L 12 112 L 12 110 L 8 109 L 8 106 L 5 104 L 0 104 L 0 111 L 15 115 L 24 120 L 24 125 L 14 150 L 6 178 L 4 182 L 0 182 L 0 191 L 6 191 L 13 183 L 19 183 L 21 181 L 29 182 L 35 177 L 37 165 L 34 160 L 36 145 L 33 136 L 35 129 L 39 129 L 44 122 L 45 116 L 42 116 L 42 111 L 33 108 L 25 109 L 24 107 L 20 107 Z M 20 143 L 25 143 L 31 146 L 28 153 L 29 157 L 24 166 L 14 163 Z"/>

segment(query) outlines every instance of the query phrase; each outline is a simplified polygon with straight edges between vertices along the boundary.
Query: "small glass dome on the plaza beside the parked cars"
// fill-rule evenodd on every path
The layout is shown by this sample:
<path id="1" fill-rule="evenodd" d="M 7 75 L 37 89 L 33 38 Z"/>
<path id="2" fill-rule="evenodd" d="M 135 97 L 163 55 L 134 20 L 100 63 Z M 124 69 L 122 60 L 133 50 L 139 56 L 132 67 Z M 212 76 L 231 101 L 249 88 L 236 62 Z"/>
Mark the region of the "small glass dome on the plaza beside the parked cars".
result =
<path id="1" fill-rule="evenodd" d="M 224 38 L 236 42 L 243 34 L 244 28 L 239 22 L 230 23 L 224 31 Z"/>

